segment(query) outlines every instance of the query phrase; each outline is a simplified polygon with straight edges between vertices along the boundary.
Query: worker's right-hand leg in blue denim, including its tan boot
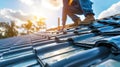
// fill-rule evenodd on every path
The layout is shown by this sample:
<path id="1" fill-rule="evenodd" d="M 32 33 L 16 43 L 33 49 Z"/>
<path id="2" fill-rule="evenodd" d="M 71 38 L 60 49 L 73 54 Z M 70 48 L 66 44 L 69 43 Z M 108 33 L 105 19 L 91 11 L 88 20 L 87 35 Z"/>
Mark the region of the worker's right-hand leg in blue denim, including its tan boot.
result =
<path id="1" fill-rule="evenodd" d="M 95 20 L 94 13 L 92 10 L 92 2 L 90 0 L 79 0 L 81 10 L 83 11 L 83 14 L 85 15 L 85 19 L 83 20 L 83 24 L 89 24 L 92 21 Z"/>

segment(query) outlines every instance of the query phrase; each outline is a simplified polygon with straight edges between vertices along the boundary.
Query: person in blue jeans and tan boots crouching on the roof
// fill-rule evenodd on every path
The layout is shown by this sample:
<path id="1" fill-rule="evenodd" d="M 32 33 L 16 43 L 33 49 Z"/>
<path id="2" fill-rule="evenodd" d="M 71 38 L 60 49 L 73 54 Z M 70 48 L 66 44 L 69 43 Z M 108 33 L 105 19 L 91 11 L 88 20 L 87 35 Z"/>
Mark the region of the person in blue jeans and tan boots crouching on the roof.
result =
<path id="1" fill-rule="evenodd" d="M 82 24 L 90 24 L 95 20 L 94 12 L 92 10 L 92 2 L 90 0 L 63 0 L 62 11 L 62 29 L 64 30 L 67 15 L 74 21 L 74 26 Z M 81 21 L 77 15 L 84 15 L 85 19 Z"/>

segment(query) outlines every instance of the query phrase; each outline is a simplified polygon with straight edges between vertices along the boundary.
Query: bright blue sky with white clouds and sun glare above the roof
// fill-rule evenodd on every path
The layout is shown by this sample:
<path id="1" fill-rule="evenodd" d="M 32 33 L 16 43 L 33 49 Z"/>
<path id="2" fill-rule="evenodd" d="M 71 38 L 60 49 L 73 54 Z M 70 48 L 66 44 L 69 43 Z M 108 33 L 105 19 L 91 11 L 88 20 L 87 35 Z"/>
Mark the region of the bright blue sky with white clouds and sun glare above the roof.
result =
<path id="1" fill-rule="evenodd" d="M 96 19 L 120 14 L 119 0 L 91 1 Z M 39 18 L 46 18 L 47 27 L 51 28 L 57 26 L 58 17 L 62 18 L 62 0 L 0 0 L 0 22 L 14 20 L 22 24 L 26 20 L 36 22 Z M 84 19 L 84 16 L 80 17 Z M 67 19 L 69 23 L 73 23 L 70 18 Z"/>

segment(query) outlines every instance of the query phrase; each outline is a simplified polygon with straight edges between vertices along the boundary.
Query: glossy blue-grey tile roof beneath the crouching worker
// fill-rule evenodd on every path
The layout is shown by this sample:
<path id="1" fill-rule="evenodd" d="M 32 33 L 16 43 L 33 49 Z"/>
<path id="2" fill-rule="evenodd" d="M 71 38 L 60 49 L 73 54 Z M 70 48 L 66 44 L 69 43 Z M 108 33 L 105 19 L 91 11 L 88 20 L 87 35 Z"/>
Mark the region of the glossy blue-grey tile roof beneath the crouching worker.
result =
<path id="1" fill-rule="evenodd" d="M 66 33 L 65 33 L 66 32 Z M 105 67 L 120 63 L 120 15 L 59 33 L 0 40 L 0 67 Z"/>

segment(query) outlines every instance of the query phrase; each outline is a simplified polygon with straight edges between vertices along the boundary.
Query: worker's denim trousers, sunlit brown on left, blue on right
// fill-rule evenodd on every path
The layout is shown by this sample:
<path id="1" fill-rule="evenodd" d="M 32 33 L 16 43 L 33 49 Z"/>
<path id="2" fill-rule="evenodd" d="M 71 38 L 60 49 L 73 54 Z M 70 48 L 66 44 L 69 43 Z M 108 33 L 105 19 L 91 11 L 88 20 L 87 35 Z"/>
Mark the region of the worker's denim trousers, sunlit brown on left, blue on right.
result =
<path id="1" fill-rule="evenodd" d="M 76 22 L 78 19 L 80 19 L 76 14 L 78 15 L 84 15 L 87 16 L 87 14 L 93 14 L 94 12 L 92 10 L 92 2 L 90 0 L 79 0 L 79 11 L 69 10 L 68 16 Z M 74 8 L 74 7 L 71 7 Z"/>

